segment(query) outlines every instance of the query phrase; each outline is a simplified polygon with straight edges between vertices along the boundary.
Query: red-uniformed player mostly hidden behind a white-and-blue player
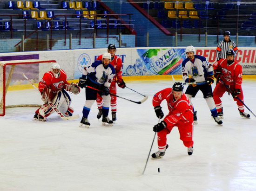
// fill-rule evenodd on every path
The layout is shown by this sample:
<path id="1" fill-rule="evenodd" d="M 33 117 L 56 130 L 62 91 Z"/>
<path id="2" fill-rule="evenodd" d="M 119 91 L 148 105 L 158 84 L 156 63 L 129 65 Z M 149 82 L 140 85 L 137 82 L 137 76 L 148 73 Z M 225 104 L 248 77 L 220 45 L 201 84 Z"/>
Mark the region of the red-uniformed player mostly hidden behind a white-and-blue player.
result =
<path id="1" fill-rule="evenodd" d="M 114 66 L 115 68 L 115 76 L 113 78 L 112 83 L 110 84 L 110 92 L 111 94 L 116 94 L 116 85 L 115 83 L 117 83 L 117 85 L 120 88 L 125 88 L 125 83 L 122 79 L 122 60 L 120 57 L 115 55 L 116 52 L 116 46 L 113 44 L 108 45 L 108 53 L 111 54 L 111 62 L 110 64 L 112 66 Z M 100 55 L 99 57 L 97 57 L 97 60 L 102 60 L 102 55 Z M 98 105 L 98 109 L 99 109 L 99 113 L 97 115 L 97 118 L 100 119 L 101 115 L 102 115 L 102 104 L 103 104 L 103 100 L 102 97 L 97 95 L 97 105 Z M 112 121 L 116 121 L 116 96 L 111 96 L 111 101 L 110 101 L 110 107 L 111 107 L 111 113 L 112 113 Z"/>

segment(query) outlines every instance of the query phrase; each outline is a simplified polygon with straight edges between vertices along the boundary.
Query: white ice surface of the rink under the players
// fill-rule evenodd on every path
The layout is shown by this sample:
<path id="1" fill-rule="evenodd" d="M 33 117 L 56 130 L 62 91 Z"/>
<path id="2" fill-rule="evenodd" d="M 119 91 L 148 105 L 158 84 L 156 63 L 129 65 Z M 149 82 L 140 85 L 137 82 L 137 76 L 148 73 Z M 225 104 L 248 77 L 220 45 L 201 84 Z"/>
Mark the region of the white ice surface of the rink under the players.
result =
<path id="1" fill-rule="evenodd" d="M 94 103 L 90 128 L 80 128 L 85 89 L 70 94 L 74 115 L 63 121 L 56 113 L 47 122 L 32 121 L 37 108 L 10 108 L 0 117 L 1 191 L 255 191 L 256 117 L 242 118 L 236 102 L 222 97 L 224 119 L 218 126 L 199 92 L 192 99 L 198 124 L 194 127 L 194 153 L 179 139 L 175 127 L 167 136 L 169 148 L 162 159 L 148 160 L 158 123 L 152 106 L 154 94 L 172 87 L 172 80 L 126 81 L 148 95 L 136 104 L 117 98 L 117 121 L 101 126 Z M 213 88 L 215 84 L 213 84 Z M 256 83 L 243 81 L 244 103 L 256 114 Z M 185 85 L 185 89 L 187 85 Z M 118 88 L 118 95 L 140 101 L 143 96 Z M 18 97 L 17 97 L 18 99 Z M 168 113 L 166 102 L 162 103 Z M 152 147 L 156 152 L 157 137 Z M 158 168 L 160 172 L 158 172 Z"/>

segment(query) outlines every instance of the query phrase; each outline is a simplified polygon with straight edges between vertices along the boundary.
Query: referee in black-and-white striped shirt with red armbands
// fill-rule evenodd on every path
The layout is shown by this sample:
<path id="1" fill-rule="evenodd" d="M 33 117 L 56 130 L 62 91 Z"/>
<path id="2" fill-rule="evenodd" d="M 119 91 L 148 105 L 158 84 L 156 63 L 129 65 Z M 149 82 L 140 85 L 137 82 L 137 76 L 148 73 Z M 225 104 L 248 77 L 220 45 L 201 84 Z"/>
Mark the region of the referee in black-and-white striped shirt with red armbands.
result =
<path id="1" fill-rule="evenodd" d="M 216 48 L 217 60 L 226 58 L 226 52 L 230 49 L 232 49 L 235 52 L 235 56 L 234 56 L 235 58 L 238 51 L 235 41 L 229 39 L 230 37 L 229 31 L 225 31 L 223 36 L 224 36 L 224 40 L 222 40 Z"/>

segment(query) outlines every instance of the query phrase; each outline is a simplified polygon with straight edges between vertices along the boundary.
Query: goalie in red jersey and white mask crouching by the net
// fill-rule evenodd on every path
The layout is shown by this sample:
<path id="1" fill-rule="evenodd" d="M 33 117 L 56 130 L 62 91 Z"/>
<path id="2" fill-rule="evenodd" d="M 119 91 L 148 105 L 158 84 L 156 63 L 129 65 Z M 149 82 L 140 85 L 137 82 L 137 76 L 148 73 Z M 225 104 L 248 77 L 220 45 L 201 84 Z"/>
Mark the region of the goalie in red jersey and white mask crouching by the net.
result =
<path id="1" fill-rule="evenodd" d="M 58 63 L 53 63 L 51 71 L 44 74 L 38 89 L 45 104 L 35 111 L 34 120 L 47 121 L 46 117 L 54 113 L 54 109 L 51 108 L 48 101 L 52 102 L 64 116 L 73 115 L 74 110 L 70 107 L 71 98 L 67 91 L 78 94 L 80 88 L 76 84 L 67 82 L 67 74 L 61 70 Z"/>

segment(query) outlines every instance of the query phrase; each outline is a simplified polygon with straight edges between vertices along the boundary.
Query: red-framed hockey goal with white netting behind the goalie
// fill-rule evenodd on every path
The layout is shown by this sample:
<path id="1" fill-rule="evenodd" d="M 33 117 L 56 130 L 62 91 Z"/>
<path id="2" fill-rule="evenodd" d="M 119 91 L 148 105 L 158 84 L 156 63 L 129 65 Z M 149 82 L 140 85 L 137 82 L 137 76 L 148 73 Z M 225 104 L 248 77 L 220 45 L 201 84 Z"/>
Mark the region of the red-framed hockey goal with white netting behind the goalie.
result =
<path id="1" fill-rule="evenodd" d="M 37 59 L 0 61 L 0 116 L 5 115 L 6 108 L 42 105 L 39 92 L 23 74 L 38 87 L 44 73 L 54 62 Z"/>

